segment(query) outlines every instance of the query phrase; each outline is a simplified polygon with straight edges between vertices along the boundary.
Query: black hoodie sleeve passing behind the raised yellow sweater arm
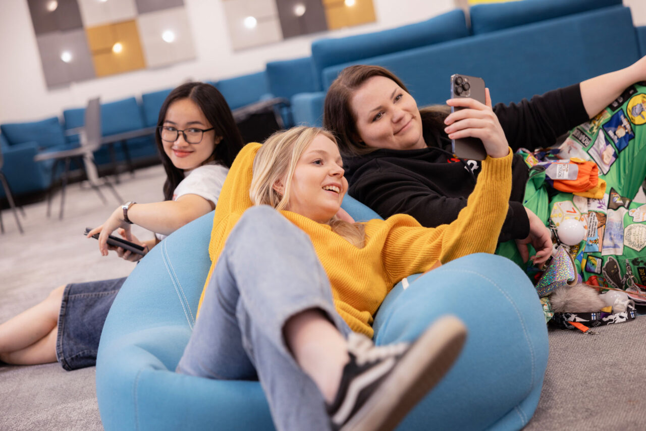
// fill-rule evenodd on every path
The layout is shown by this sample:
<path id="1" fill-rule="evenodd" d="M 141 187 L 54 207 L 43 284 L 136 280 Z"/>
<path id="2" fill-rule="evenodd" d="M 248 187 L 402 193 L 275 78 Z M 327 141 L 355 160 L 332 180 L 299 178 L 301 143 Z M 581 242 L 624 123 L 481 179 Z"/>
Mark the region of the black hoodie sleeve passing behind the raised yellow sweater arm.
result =
<path id="1" fill-rule="evenodd" d="M 364 174 L 348 192 L 383 218 L 395 214 L 413 216 L 424 227 L 449 224 L 466 207 L 466 197 L 448 198 L 405 173 L 377 170 Z M 523 204 L 509 202 L 499 242 L 524 239 L 529 235 L 529 220 Z"/>

